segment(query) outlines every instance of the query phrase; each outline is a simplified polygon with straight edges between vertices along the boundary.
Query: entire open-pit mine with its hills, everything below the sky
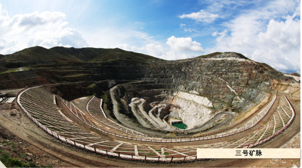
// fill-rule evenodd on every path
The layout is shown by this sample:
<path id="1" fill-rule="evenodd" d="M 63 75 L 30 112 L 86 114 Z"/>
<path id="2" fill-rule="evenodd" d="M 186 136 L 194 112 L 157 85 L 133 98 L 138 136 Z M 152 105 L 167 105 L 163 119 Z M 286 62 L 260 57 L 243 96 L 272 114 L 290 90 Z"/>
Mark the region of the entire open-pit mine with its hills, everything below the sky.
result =
<path id="1" fill-rule="evenodd" d="M 200 160 L 197 148 L 280 148 L 301 130 L 301 84 L 239 53 L 32 47 L 0 59 L 0 124 L 75 167 L 245 167 L 257 160 Z"/>

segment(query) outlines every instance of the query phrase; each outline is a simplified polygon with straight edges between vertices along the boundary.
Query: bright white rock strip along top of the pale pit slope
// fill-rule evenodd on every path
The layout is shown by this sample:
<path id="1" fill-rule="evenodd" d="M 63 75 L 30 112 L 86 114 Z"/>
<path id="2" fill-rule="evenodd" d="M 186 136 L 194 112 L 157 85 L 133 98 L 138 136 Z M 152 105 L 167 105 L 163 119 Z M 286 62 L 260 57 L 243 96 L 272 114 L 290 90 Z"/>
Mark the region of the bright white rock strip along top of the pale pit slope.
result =
<path id="1" fill-rule="evenodd" d="M 206 107 L 213 107 L 213 103 L 210 102 L 210 100 L 207 99 L 206 97 L 193 95 L 193 94 L 186 93 L 186 92 L 178 92 L 178 91 L 174 92 L 174 96 L 196 102 L 196 103 L 204 105 Z M 175 103 L 175 104 L 177 105 L 177 103 Z"/>

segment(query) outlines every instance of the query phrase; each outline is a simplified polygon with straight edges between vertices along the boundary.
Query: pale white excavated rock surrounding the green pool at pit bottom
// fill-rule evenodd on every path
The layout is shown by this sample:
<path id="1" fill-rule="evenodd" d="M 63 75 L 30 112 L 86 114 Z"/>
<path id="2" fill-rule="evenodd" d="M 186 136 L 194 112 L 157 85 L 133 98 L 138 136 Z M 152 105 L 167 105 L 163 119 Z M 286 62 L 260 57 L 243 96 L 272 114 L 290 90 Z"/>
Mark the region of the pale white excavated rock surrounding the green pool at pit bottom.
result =
<path id="1" fill-rule="evenodd" d="M 181 131 L 172 124 L 183 122 L 188 126 L 186 130 L 189 130 L 205 124 L 215 115 L 210 110 L 213 103 L 209 99 L 195 95 L 198 94 L 196 91 L 191 93 L 175 91 L 173 96 L 166 95 L 167 99 L 150 104 L 145 99 L 133 98 L 129 106 L 142 125 L 151 124 L 161 130 Z"/>

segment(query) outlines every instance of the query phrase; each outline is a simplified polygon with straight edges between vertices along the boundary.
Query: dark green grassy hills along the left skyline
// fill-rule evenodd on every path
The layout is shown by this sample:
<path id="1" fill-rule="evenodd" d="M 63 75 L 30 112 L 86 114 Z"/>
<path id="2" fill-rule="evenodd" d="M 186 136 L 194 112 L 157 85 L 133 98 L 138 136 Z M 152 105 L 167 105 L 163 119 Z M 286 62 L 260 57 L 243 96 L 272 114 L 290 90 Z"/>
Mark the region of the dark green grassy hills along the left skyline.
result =
<path id="1" fill-rule="evenodd" d="M 125 51 L 119 48 L 66 48 L 53 47 L 46 49 L 43 47 L 31 47 L 16 53 L 1 56 L 3 61 L 67 61 L 67 62 L 99 62 L 112 60 L 133 60 L 147 62 L 150 60 L 161 60 L 149 55 Z"/>

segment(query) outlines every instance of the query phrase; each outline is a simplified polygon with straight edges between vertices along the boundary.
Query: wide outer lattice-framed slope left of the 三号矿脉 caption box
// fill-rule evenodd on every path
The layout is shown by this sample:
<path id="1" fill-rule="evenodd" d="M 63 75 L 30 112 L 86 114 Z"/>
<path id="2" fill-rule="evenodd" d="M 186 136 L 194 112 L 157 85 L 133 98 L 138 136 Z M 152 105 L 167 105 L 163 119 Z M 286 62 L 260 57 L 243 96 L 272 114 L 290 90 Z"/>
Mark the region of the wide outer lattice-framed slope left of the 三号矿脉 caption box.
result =
<path id="1" fill-rule="evenodd" d="M 194 155 L 194 153 L 188 149 L 183 149 L 185 152 L 180 154 L 180 152 L 177 151 L 173 152 L 173 150 L 168 149 L 168 147 L 167 149 L 162 149 L 160 147 L 152 148 L 145 145 L 135 146 L 130 145 L 127 142 L 114 142 L 97 137 L 94 134 L 82 130 L 66 119 L 66 117 L 64 117 L 63 114 L 56 109 L 54 104 L 54 95 L 42 87 L 31 88 L 22 92 L 18 97 L 18 103 L 28 117 L 49 134 L 60 139 L 61 141 L 65 141 L 69 144 L 83 147 L 88 150 L 96 151 L 98 153 L 128 159 L 144 158 L 143 160 L 157 160 L 158 157 L 146 157 L 146 155 L 136 156 L 135 154 L 138 152 L 140 155 L 143 155 L 150 152 L 153 153 L 154 150 L 161 150 L 164 153 L 174 156 L 175 160 L 183 160 L 182 156 L 187 156 L 187 154 L 184 153 L 191 153 L 190 155 Z M 76 108 L 74 110 L 76 111 Z M 126 150 L 128 154 L 122 153 Z M 129 155 L 131 152 L 133 155 Z M 181 157 L 179 157 L 179 154 Z M 195 158 L 195 156 L 188 156 L 186 159 L 193 159 L 193 157 Z M 167 161 L 167 158 L 170 160 L 171 157 L 164 155 L 159 159 L 162 161 Z"/>

